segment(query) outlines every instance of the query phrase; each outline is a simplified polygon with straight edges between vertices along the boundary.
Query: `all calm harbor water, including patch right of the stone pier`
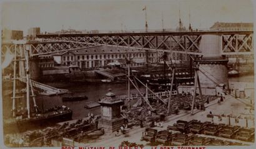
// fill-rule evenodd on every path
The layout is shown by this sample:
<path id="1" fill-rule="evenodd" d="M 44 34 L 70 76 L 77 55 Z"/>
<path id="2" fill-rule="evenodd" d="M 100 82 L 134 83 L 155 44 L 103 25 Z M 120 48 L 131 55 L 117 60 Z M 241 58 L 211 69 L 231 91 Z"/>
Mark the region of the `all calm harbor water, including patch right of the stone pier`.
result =
<path id="1" fill-rule="evenodd" d="M 240 76 L 238 78 L 230 78 L 230 81 L 245 81 L 245 82 L 254 82 L 254 76 Z M 89 112 L 93 112 L 94 114 L 100 114 L 99 107 L 88 110 L 85 109 L 85 103 L 88 101 L 99 101 L 104 95 L 108 92 L 109 89 L 112 89 L 112 92 L 116 95 L 126 95 L 127 94 L 127 84 L 103 84 L 103 83 L 47 83 L 56 88 L 69 89 L 74 95 L 86 95 L 88 97 L 85 101 L 73 101 L 73 102 L 62 102 L 62 97 L 67 96 L 59 95 L 59 96 L 36 96 L 36 104 L 40 109 L 49 109 L 54 106 L 62 106 L 66 105 L 70 107 L 73 111 L 73 119 L 81 119 L 82 117 L 86 117 Z M 145 93 L 145 88 L 140 88 L 140 91 Z M 131 93 L 137 93 L 137 91 L 132 88 Z M 17 103 L 24 104 L 25 107 L 26 101 L 17 101 Z M 12 99 L 11 97 L 4 97 L 3 100 L 3 113 L 4 117 L 11 116 L 12 109 Z M 31 100 L 31 106 L 32 106 Z"/>

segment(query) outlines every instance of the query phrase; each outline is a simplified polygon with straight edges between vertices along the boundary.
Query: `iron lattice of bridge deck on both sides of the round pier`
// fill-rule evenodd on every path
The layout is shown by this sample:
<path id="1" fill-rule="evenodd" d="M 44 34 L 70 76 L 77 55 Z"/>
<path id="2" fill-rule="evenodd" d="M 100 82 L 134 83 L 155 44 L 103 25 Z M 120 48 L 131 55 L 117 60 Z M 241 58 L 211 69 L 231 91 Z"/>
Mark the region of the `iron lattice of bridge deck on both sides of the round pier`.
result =
<path id="1" fill-rule="evenodd" d="M 157 50 L 158 52 L 202 55 L 199 48 L 202 35 L 219 35 L 222 41 L 222 48 L 220 50 L 222 50 L 222 54 L 224 55 L 232 55 L 234 53 L 252 54 L 252 31 L 46 34 L 37 35 L 37 38 L 49 42 L 62 42 L 62 47 L 67 47 L 67 45 L 72 46 L 74 44 L 82 44 L 84 46 L 107 45 L 140 48 L 143 50 Z M 37 53 L 40 53 L 42 48 L 38 48 Z M 54 51 L 54 48 L 49 48 L 50 50 L 47 52 Z"/>

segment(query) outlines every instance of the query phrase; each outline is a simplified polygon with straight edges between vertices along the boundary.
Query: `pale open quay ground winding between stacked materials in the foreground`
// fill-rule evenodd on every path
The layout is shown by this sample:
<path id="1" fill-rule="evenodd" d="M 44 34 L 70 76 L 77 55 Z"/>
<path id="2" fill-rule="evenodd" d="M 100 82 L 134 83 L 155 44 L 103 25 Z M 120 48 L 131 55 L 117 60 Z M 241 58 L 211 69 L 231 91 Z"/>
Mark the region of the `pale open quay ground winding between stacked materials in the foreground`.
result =
<path id="1" fill-rule="evenodd" d="M 164 122 L 164 127 L 155 127 L 154 129 L 164 130 L 167 129 L 168 125 L 173 125 L 177 120 L 192 120 L 197 119 L 201 122 L 205 121 L 212 121 L 211 118 L 207 118 L 206 115 L 209 114 L 211 111 L 213 114 L 220 115 L 220 114 L 232 114 L 232 115 L 254 115 L 254 111 L 249 111 L 247 106 L 245 105 L 244 99 L 235 99 L 234 97 L 227 95 L 225 96 L 224 102 L 222 104 L 217 104 L 218 100 L 212 101 L 209 104 L 205 105 L 207 108 L 205 111 L 199 111 L 195 109 L 194 115 L 190 113 L 181 111 L 179 115 L 170 115 L 167 117 L 167 121 Z M 227 117 L 222 118 L 220 121 L 218 117 L 214 117 L 214 123 L 222 123 L 222 124 L 229 124 L 229 119 Z M 235 123 L 235 119 L 230 119 L 231 125 L 240 125 L 245 126 L 245 120 L 241 119 L 239 123 Z M 252 120 L 248 121 L 249 127 L 254 127 L 254 122 Z M 121 135 L 119 137 L 115 137 L 114 134 L 104 135 L 97 140 L 92 140 L 92 142 L 87 143 L 76 143 L 77 146 L 88 146 L 88 147 L 108 147 L 108 146 L 118 146 L 121 145 L 123 141 L 135 142 L 137 144 L 147 145 L 149 142 L 140 141 L 142 137 L 142 132 L 145 128 L 134 127 L 130 130 L 129 135 Z M 224 140 L 229 140 L 225 139 Z M 247 143 L 249 144 L 249 143 Z"/>

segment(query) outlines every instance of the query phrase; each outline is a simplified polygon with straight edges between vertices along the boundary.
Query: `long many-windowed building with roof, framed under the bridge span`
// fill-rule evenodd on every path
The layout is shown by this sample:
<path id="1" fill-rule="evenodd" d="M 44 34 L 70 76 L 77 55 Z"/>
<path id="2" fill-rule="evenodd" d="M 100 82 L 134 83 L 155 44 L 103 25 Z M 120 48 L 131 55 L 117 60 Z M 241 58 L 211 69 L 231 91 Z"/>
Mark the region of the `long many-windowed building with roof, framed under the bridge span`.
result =
<path id="1" fill-rule="evenodd" d="M 131 66 L 157 62 L 157 52 L 153 50 L 146 52 L 145 50 L 106 46 L 57 53 L 53 56 L 59 56 L 63 66 L 77 65 L 81 69 L 104 67 L 111 62 L 119 62 L 121 66 L 126 66 L 126 58 L 130 58 Z"/>

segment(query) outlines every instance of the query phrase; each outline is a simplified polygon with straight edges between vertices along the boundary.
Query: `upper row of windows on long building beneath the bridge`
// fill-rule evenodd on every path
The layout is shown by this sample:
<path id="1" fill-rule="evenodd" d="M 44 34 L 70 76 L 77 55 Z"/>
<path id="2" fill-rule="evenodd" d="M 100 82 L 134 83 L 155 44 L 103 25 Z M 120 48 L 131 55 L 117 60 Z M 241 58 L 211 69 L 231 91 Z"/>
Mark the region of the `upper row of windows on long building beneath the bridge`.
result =
<path id="1" fill-rule="evenodd" d="M 144 57 L 145 53 L 133 53 L 133 54 L 112 54 L 112 55 L 77 55 L 77 60 L 89 60 L 89 58 L 91 58 L 91 60 L 94 60 L 94 58 L 96 60 L 101 60 L 102 57 L 103 59 L 110 59 L 110 58 L 126 58 L 126 57 Z M 154 53 L 149 53 L 149 56 L 154 56 Z M 74 56 L 62 56 L 62 61 L 72 61 Z"/>

